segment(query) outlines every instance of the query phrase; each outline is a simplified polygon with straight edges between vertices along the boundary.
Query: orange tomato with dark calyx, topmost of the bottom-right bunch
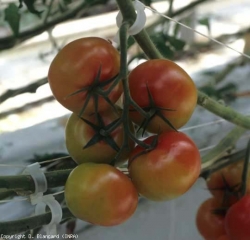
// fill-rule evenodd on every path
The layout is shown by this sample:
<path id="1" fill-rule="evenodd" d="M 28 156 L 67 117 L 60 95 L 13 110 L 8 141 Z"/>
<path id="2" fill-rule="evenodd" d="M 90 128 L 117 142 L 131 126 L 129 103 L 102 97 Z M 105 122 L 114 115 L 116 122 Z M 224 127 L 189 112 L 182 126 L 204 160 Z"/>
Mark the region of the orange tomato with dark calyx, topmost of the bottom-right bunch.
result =
<path id="1" fill-rule="evenodd" d="M 243 161 L 230 164 L 219 171 L 212 173 L 207 179 L 207 186 L 210 192 L 216 197 L 222 199 L 226 190 L 237 191 L 241 185 L 241 176 L 243 171 Z M 229 188 L 229 189 L 228 189 Z M 247 175 L 247 193 L 250 193 L 250 168 Z M 228 203 L 232 205 L 237 201 L 236 195 L 228 195 Z"/>

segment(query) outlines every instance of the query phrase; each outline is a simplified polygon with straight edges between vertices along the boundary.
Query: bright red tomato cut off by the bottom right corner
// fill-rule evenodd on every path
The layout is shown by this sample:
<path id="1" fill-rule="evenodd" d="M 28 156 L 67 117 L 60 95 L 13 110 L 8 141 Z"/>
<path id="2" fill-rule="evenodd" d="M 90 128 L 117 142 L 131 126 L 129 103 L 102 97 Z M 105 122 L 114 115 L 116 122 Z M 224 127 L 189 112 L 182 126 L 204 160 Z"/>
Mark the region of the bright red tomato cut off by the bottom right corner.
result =
<path id="1" fill-rule="evenodd" d="M 232 205 L 225 218 L 225 228 L 230 240 L 249 240 L 250 195 L 245 195 Z"/>

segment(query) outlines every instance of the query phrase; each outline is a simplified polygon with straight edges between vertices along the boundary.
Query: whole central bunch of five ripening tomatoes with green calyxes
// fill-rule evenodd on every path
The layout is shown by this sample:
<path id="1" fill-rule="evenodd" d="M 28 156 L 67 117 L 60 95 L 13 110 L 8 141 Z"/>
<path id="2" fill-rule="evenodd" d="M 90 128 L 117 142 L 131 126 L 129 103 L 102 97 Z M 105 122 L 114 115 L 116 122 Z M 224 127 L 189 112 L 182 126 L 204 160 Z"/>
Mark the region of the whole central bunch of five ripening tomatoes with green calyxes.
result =
<path id="1" fill-rule="evenodd" d="M 77 218 L 101 226 L 132 216 L 138 195 L 163 201 L 184 194 L 201 168 L 196 145 L 177 131 L 197 102 L 188 74 L 162 59 L 140 64 L 128 79 L 120 77 L 119 68 L 112 44 L 91 37 L 66 45 L 48 74 L 55 98 L 72 111 L 65 138 L 78 166 L 65 185 L 67 206 Z M 124 91 L 129 99 L 120 108 L 115 103 Z M 135 124 L 155 135 L 141 141 Z M 125 172 L 114 167 L 126 160 Z"/>

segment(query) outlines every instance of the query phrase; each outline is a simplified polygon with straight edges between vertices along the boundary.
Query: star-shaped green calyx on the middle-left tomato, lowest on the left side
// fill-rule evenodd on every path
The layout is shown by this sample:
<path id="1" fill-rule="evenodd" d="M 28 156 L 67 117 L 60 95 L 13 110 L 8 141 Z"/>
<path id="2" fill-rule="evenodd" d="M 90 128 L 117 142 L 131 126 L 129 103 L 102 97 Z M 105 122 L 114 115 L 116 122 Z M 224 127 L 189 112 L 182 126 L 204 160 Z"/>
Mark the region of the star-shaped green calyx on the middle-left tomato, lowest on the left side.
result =
<path id="1" fill-rule="evenodd" d="M 117 123 L 120 121 L 120 118 L 117 118 L 112 123 L 105 126 L 103 119 L 99 113 L 96 114 L 96 117 L 98 125 L 95 125 L 92 122 L 88 121 L 87 119 L 81 117 L 81 119 L 95 131 L 94 136 L 88 141 L 88 143 L 85 146 L 83 146 L 83 149 L 91 147 L 100 141 L 104 141 L 115 151 L 117 152 L 120 151 L 120 148 L 118 147 L 117 143 L 114 141 L 114 139 L 108 132 L 110 128 L 117 125 Z"/>

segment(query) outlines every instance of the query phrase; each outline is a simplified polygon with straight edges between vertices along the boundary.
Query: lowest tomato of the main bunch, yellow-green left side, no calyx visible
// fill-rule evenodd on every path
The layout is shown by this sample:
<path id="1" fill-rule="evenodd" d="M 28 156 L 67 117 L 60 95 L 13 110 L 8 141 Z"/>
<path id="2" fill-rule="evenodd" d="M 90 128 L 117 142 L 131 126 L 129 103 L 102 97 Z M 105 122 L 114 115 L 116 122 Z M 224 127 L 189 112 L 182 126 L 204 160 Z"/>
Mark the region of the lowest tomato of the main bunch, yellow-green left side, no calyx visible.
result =
<path id="1" fill-rule="evenodd" d="M 72 214 L 101 226 L 114 226 L 133 215 L 138 194 L 130 179 L 108 164 L 84 163 L 69 175 L 65 200 Z"/>

